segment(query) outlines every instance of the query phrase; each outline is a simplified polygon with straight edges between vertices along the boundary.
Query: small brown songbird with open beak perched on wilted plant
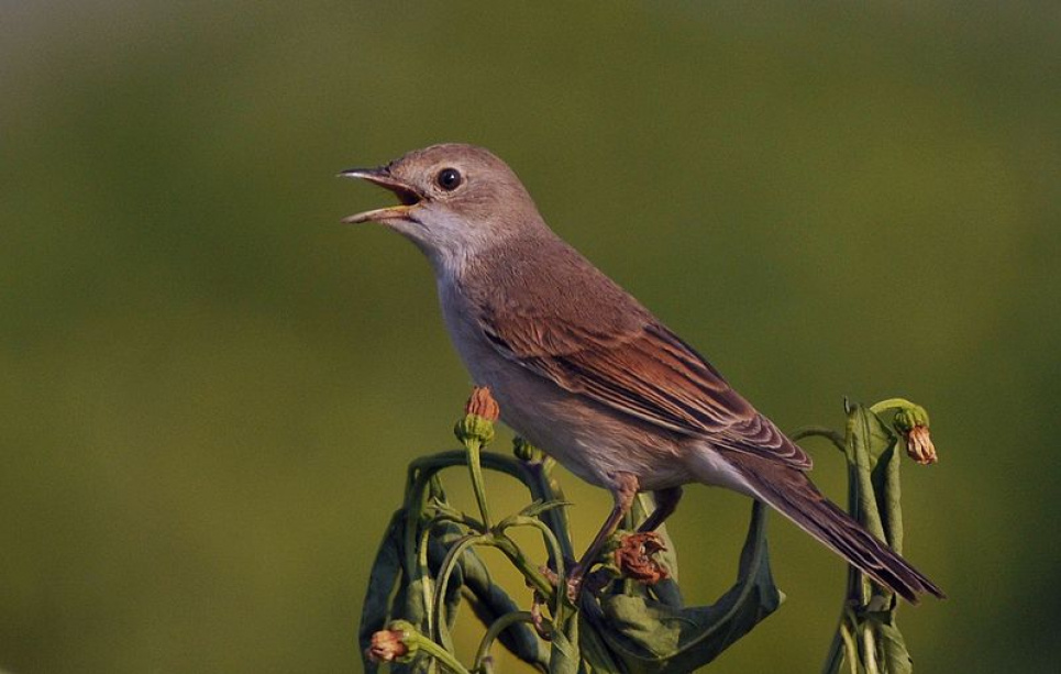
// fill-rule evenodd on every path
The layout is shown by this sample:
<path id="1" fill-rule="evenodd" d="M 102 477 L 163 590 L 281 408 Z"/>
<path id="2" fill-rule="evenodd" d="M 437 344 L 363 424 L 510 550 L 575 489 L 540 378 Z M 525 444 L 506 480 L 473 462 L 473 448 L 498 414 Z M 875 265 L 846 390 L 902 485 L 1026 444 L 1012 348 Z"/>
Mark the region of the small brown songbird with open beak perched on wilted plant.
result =
<path id="1" fill-rule="evenodd" d="M 652 531 L 689 484 L 758 499 L 910 603 L 942 590 L 826 498 L 811 460 L 693 346 L 564 242 L 509 166 L 444 143 L 340 177 L 398 203 L 343 218 L 410 240 L 434 273 L 442 318 L 475 385 L 501 420 L 614 507 L 572 572 L 596 559 L 651 491 Z"/>

